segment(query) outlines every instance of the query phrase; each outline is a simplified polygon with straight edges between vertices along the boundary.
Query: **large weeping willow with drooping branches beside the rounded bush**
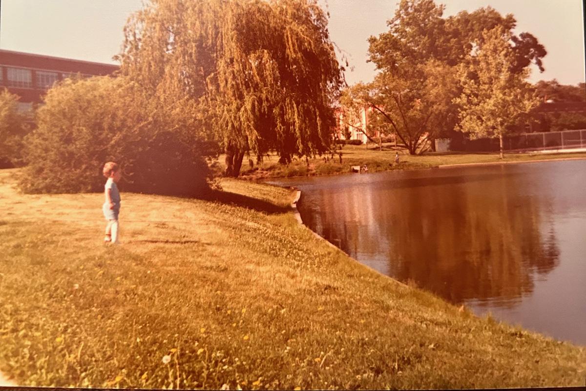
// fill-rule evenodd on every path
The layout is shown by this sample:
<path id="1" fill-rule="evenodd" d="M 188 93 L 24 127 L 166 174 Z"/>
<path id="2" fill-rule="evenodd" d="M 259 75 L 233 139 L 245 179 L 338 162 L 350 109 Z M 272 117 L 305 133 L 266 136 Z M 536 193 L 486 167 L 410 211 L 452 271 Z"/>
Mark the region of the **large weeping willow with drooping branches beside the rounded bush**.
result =
<path id="1" fill-rule="evenodd" d="M 281 163 L 328 150 L 343 68 L 316 0 L 151 0 L 125 26 L 121 72 L 189 116 L 195 137 Z"/>

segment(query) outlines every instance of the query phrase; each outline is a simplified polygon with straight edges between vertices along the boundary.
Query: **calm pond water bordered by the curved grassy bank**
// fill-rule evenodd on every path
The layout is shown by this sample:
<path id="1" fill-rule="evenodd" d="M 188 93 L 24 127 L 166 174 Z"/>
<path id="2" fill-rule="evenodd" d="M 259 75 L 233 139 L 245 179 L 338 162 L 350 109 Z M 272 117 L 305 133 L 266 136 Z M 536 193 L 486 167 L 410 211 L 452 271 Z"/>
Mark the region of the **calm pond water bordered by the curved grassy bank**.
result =
<path id="1" fill-rule="evenodd" d="M 478 315 L 586 345 L 586 160 L 272 181 L 347 254 Z"/>

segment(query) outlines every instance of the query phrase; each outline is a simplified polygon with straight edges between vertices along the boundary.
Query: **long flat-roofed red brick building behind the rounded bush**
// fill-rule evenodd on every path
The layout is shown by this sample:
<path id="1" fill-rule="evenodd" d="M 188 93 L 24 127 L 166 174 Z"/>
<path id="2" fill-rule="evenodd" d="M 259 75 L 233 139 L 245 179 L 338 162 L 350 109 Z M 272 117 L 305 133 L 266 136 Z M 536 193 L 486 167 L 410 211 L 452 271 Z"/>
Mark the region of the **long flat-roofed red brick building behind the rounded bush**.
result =
<path id="1" fill-rule="evenodd" d="M 80 74 L 82 77 L 114 73 L 118 66 L 91 61 L 63 59 L 0 49 L 0 88 L 20 97 L 19 109 L 26 111 L 42 102 L 42 96 L 56 82 Z"/>

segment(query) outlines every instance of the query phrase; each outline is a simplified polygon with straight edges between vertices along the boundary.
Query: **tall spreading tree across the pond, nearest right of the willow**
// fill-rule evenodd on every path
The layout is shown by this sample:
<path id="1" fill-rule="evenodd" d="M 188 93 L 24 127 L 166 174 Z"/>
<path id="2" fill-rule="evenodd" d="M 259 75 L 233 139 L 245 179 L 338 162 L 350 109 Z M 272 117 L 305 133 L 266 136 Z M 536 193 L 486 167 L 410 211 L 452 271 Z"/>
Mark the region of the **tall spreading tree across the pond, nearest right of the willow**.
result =
<path id="1" fill-rule="evenodd" d="M 380 72 L 363 94 L 411 154 L 424 152 L 438 133 L 454 127 L 457 94 L 449 54 L 443 6 L 432 0 L 403 0 L 389 31 L 369 38 L 369 61 Z"/>

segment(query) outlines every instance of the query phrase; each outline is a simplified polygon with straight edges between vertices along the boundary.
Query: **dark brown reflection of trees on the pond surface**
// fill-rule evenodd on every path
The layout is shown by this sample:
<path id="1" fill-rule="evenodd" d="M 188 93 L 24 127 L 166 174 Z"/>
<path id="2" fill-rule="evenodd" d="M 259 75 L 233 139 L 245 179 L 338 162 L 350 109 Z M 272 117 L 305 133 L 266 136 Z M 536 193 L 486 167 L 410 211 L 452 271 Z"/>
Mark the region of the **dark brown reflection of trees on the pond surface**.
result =
<path id="1" fill-rule="evenodd" d="M 515 170 L 449 171 L 322 188 L 302 198 L 302 217 L 381 273 L 454 303 L 515 306 L 559 263 L 551 200 Z"/>

